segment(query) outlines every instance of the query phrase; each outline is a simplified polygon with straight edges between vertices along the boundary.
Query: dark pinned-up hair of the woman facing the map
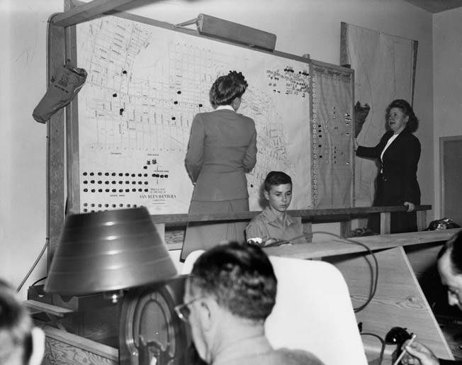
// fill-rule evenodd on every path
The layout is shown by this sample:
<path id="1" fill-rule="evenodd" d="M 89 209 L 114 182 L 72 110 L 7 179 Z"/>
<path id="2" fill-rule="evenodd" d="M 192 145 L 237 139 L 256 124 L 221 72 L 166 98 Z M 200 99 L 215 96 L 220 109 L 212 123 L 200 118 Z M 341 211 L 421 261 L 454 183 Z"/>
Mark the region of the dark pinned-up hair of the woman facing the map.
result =
<path id="1" fill-rule="evenodd" d="M 242 72 L 230 71 L 225 76 L 220 76 L 215 80 L 210 89 L 210 103 L 212 106 L 231 105 L 236 98 L 242 97 L 247 89 L 247 81 L 245 81 Z"/>

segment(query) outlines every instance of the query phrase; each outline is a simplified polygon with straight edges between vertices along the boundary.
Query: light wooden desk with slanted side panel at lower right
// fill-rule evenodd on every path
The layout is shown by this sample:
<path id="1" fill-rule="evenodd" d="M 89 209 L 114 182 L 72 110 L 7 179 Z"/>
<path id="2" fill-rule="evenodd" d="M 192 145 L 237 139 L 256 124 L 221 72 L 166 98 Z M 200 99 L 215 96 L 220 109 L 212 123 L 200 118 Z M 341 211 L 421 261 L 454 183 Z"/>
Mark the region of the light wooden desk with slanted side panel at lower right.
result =
<path id="1" fill-rule="evenodd" d="M 419 342 L 427 344 L 443 359 L 453 359 L 444 335 L 439 329 L 434 314 L 419 285 L 418 276 L 435 264 L 441 245 L 454 233 L 461 230 L 424 231 L 395 235 L 356 237 L 355 241 L 369 247 L 378 261 L 378 283 L 376 294 L 364 310 L 356 313 L 363 323 L 363 332 L 385 337 L 391 327 L 406 327 L 415 332 Z M 265 249 L 267 254 L 323 260 L 334 264 L 344 275 L 349 287 L 354 308 L 366 302 L 373 277 L 373 261 L 367 250 L 358 245 L 349 245 L 332 237 L 327 242 L 311 242 Z M 380 342 L 363 336 L 364 348 L 370 364 L 374 364 L 380 352 Z M 391 354 L 395 345 L 385 347 L 383 364 L 392 364 Z"/>

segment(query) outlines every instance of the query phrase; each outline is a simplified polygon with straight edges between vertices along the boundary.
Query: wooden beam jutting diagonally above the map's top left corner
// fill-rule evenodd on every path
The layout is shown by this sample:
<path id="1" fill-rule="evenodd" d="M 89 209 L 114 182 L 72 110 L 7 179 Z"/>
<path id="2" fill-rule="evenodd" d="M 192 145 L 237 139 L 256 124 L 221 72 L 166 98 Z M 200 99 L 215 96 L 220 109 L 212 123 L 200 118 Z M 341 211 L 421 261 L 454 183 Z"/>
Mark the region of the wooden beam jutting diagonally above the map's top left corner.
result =
<path id="1" fill-rule="evenodd" d="M 77 6 L 77 8 L 57 14 L 53 17 L 51 23 L 58 27 L 74 26 L 135 1 L 137 0 L 92 0 Z"/>

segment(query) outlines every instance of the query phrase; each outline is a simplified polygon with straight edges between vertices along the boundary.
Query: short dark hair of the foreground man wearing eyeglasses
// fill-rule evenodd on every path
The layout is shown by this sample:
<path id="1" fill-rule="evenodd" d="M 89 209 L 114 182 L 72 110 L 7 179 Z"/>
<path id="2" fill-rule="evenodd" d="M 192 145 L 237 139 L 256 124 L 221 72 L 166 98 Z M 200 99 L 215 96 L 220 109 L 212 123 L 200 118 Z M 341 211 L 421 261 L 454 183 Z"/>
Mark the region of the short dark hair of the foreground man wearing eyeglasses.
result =
<path id="1" fill-rule="evenodd" d="M 266 320 L 276 302 L 273 266 L 257 245 L 230 242 L 201 254 L 191 271 L 191 286 L 233 315 Z"/>

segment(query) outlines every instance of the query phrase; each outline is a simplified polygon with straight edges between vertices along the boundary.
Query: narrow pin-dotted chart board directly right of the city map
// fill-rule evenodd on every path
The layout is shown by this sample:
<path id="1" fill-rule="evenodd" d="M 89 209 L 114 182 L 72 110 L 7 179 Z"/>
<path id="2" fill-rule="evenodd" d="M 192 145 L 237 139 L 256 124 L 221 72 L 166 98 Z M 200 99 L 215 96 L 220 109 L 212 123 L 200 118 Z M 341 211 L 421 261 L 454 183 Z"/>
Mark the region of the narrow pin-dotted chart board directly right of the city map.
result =
<path id="1" fill-rule="evenodd" d="M 354 206 L 354 72 L 324 62 L 311 64 L 312 206 Z"/>

